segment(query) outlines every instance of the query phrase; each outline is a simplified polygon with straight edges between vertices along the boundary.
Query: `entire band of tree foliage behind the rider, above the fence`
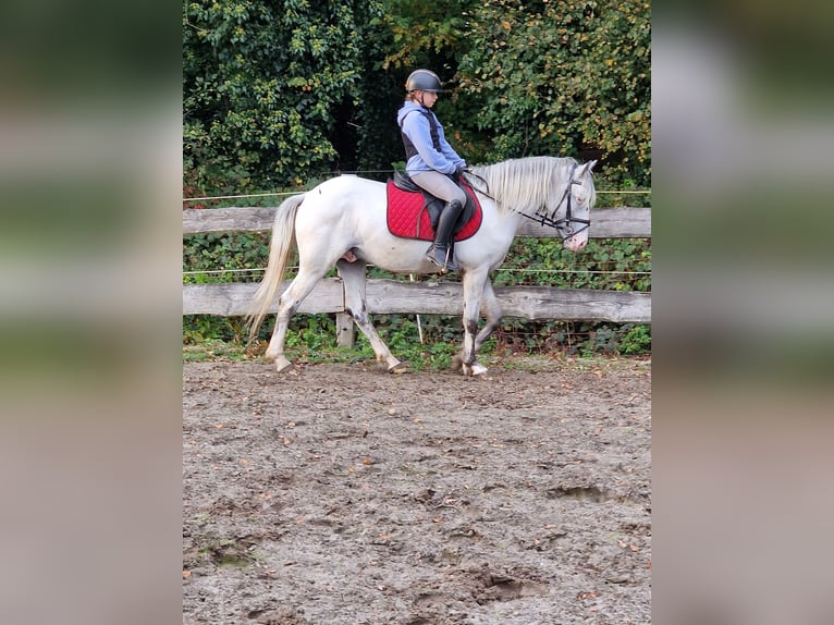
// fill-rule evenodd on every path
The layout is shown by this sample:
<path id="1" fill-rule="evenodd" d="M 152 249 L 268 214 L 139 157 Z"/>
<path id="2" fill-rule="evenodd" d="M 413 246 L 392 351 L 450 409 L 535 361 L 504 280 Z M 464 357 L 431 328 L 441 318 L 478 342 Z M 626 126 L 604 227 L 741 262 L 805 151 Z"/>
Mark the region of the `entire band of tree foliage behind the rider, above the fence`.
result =
<path id="1" fill-rule="evenodd" d="M 417 66 L 455 87 L 438 113 L 470 162 L 602 158 L 648 186 L 650 23 L 624 0 L 185 0 L 184 166 L 203 192 L 305 184 L 402 160 Z"/>

